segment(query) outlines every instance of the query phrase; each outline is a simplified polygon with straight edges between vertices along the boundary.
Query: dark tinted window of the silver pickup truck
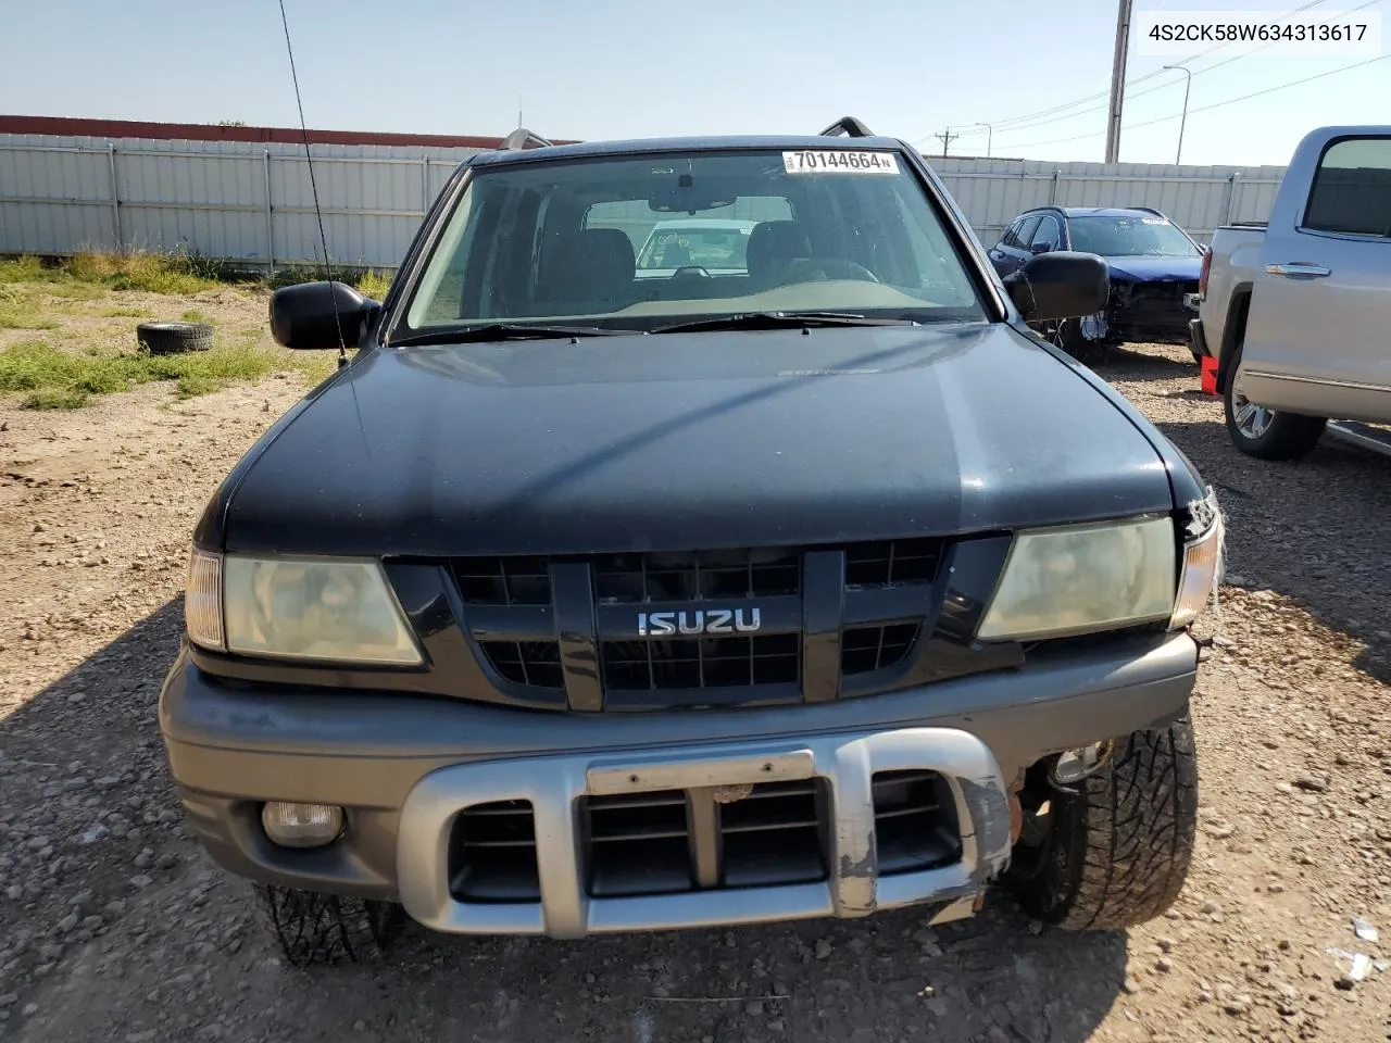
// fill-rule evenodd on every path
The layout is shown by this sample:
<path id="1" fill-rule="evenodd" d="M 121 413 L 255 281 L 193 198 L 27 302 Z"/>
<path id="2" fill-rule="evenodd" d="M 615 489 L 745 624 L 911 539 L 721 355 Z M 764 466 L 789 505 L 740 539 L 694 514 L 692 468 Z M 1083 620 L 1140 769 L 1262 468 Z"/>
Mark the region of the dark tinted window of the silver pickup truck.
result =
<path id="1" fill-rule="evenodd" d="M 1303 227 L 1391 236 L 1391 138 L 1344 138 L 1324 149 Z"/>

